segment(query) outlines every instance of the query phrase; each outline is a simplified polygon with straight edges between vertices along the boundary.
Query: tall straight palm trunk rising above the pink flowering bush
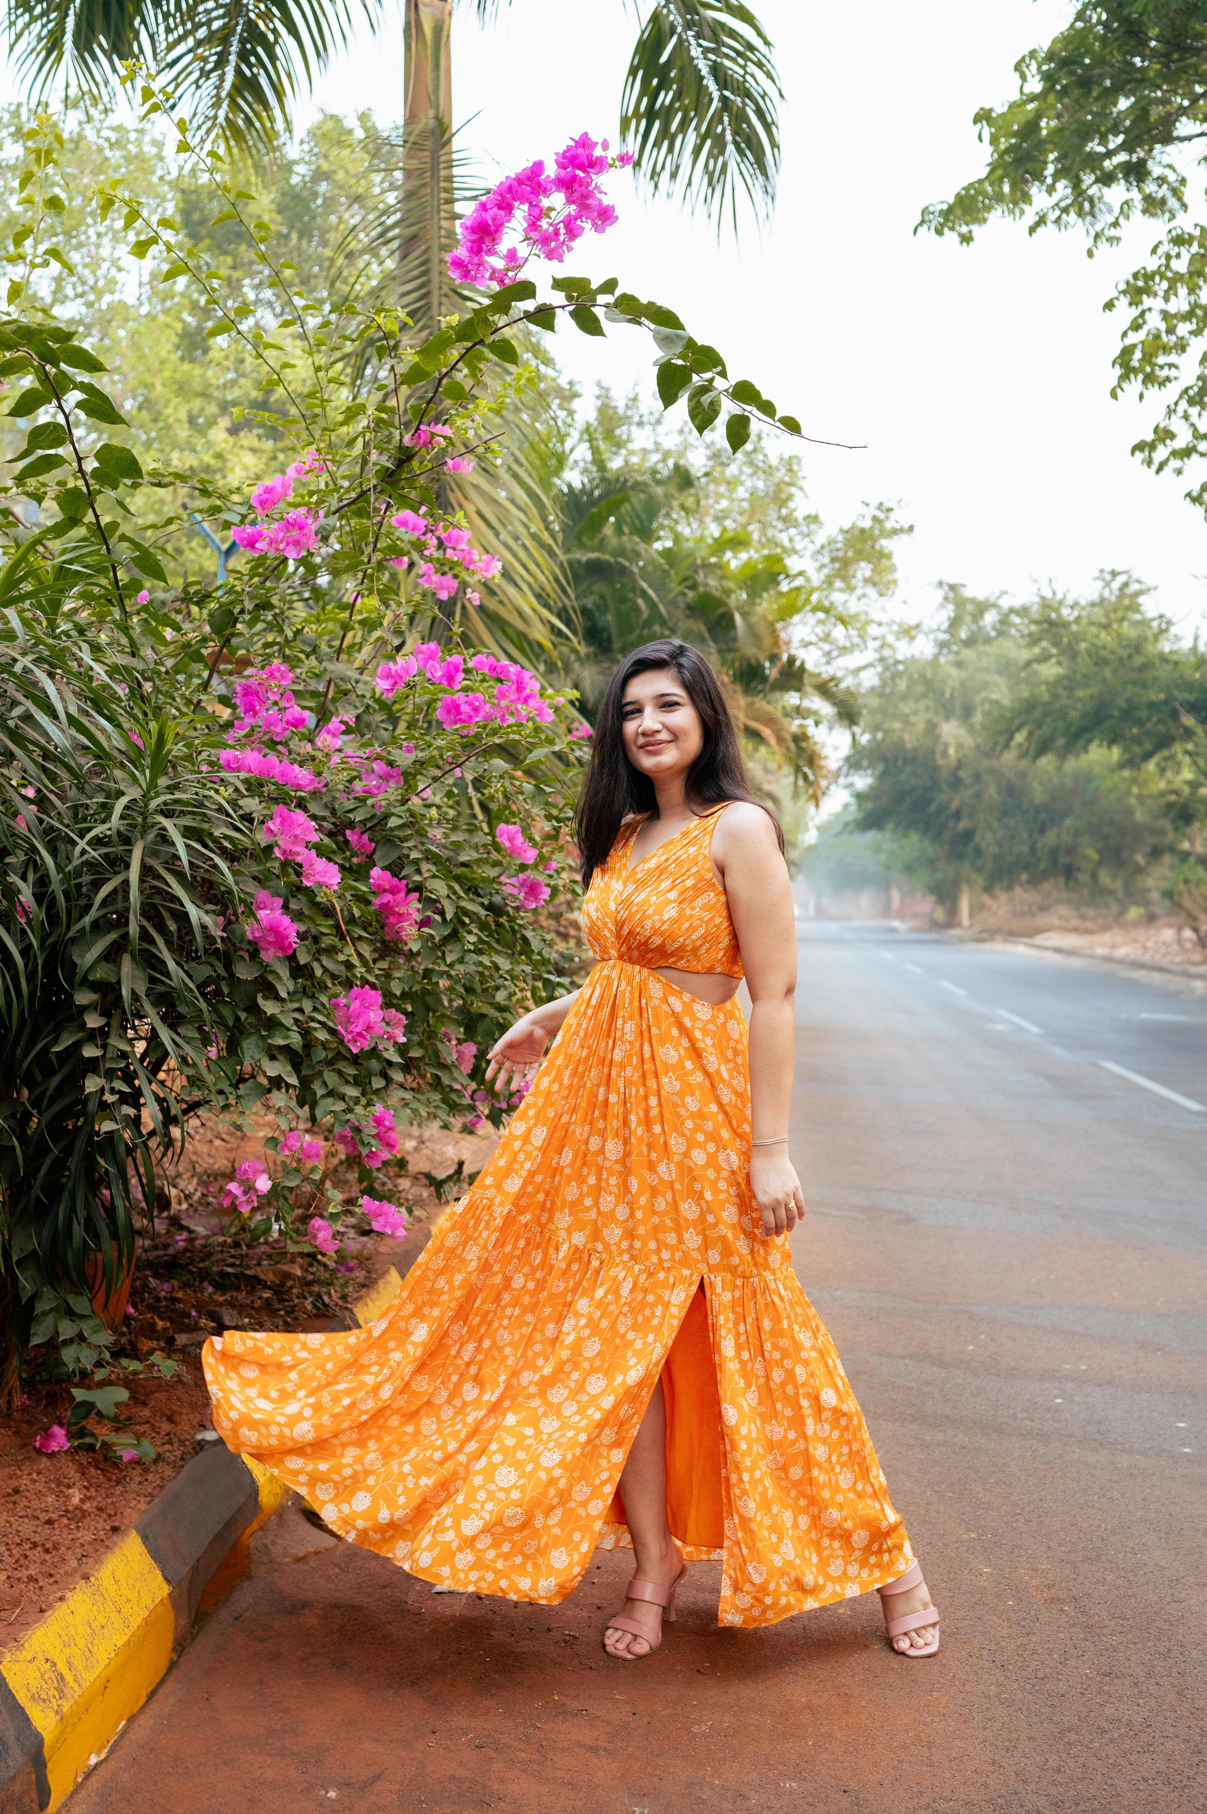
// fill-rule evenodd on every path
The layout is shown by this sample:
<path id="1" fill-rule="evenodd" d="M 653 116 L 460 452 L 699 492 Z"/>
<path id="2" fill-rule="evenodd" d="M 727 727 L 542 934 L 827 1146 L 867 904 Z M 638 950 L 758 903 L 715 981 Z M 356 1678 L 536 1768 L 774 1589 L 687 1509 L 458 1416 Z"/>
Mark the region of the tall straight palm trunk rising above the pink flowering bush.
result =
<path id="1" fill-rule="evenodd" d="M 448 301 L 446 252 L 456 234 L 452 185 L 454 0 L 405 0 L 407 112 L 403 209 L 397 249 L 399 301 L 430 334 Z"/>

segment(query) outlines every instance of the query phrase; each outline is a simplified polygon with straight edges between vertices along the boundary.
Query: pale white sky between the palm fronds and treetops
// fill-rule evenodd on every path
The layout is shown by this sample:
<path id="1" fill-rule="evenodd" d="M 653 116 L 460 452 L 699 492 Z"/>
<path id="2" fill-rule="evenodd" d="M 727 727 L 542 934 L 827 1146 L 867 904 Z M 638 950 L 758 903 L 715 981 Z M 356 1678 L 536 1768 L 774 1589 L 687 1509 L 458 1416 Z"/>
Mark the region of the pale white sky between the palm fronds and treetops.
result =
<path id="1" fill-rule="evenodd" d="M 829 524 L 862 501 L 900 501 L 902 604 L 920 615 L 940 579 L 1025 597 L 1080 591 L 1133 568 L 1185 631 L 1207 624 L 1203 517 L 1187 481 L 1156 479 L 1131 444 L 1160 399 L 1113 403 L 1118 316 L 1102 303 L 1156 238 L 1085 258 L 1080 234 L 995 221 L 973 249 L 913 227 L 927 201 L 978 174 L 971 116 L 1015 93 L 1013 63 L 1069 18 L 1069 0 L 753 0 L 786 91 L 784 165 L 770 227 L 748 218 L 721 243 L 672 201 L 610 180 L 621 223 L 588 236 L 570 270 L 617 276 L 675 308 L 806 434 L 868 443 L 806 448 L 811 504 Z M 623 0 L 515 0 L 481 29 L 454 20 L 454 111 L 486 176 L 552 160 L 583 129 L 615 143 L 635 38 Z M 329 69 L 318 107 L 401 116 L 396 0 Z M 4 83 L 7 87 L 7 83 Z M 303 114 L 301 123 L 312 116 Z M 557 334 L 584 388 L 633 381 L 653 395 L 644 337 Z"/>

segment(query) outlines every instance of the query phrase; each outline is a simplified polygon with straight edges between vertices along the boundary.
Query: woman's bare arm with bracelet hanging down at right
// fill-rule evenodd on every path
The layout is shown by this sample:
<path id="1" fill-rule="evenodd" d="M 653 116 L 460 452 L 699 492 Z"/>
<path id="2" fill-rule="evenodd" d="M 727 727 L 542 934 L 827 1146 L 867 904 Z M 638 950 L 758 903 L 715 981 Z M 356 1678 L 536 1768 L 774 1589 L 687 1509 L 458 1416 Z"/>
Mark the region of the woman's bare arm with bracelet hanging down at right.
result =
<path id="1" fill-rule="evenodd" d="M 724 882 L 750 989 L 750 1188 L 764 1235 L 784 1234 L 804 1215 L 800 1179 L 788 1157 L 788 1112 L 795 1059 L 797 922 L 788 865 L 768 814 L 735 802 L 713 834 L 713 862 Z"/>

